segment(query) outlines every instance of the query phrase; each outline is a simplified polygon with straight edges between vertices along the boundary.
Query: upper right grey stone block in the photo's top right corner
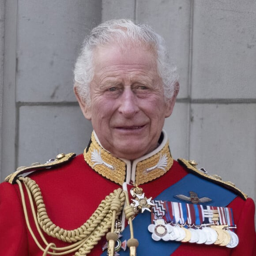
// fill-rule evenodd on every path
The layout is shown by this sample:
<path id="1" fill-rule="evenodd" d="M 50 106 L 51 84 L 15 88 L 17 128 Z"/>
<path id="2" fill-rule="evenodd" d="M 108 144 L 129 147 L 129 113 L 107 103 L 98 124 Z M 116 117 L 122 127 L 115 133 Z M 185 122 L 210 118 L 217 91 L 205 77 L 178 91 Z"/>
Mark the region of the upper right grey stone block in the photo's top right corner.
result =
<path id="1" fill-rule="evenodd" d="M 256 98 L 256 1 L 194 1 L 192 98 Z"/>

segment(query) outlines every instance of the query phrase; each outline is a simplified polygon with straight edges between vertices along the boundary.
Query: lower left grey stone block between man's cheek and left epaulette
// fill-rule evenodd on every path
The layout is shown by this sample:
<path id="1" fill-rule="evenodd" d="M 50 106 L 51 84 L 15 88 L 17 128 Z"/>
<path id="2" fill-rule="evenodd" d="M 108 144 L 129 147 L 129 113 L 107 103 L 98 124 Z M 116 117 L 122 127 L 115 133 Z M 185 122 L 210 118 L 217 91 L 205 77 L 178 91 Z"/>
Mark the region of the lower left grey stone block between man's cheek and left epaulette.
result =
<path id="1" fill-rule="evenodd" d="M 76 105 L 21 106 L 18 166 L 44 163 L 59 153 L 83 153 L 92 132 Z"/>

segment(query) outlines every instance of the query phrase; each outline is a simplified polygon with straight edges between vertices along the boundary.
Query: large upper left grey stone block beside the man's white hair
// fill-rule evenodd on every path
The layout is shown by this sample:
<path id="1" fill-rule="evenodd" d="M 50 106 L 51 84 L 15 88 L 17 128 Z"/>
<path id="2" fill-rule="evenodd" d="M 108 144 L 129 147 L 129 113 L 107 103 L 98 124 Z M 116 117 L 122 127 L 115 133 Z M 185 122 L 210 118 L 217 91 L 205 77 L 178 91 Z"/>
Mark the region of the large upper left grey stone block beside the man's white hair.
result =
<path id="1" fill-rule="evenodd" d="M 17 101 L 75 101 L 74 63 L 85 34 L 100 20 L 100 0 L 19 0 Z"/>

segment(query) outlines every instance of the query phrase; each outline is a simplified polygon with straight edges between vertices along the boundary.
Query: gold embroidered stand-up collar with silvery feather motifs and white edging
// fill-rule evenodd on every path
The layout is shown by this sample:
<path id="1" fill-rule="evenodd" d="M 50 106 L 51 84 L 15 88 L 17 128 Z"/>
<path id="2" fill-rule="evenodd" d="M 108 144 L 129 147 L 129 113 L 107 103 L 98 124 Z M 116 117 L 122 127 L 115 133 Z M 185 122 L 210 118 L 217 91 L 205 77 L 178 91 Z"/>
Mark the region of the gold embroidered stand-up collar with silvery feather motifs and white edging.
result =
<path id="1" fill-rule="evenodd" d="M 91 142 L 84 150 L 84 159 L 97 173 L 117 184 L 122 185 L 130 181 L 137 185 L 144 184 L 161 177 L 173 165 L 165 131 L 162 132 L 162 136 L 162 143 L 154 151 L 131 162 L 106 151 L 93 132 Z"/>

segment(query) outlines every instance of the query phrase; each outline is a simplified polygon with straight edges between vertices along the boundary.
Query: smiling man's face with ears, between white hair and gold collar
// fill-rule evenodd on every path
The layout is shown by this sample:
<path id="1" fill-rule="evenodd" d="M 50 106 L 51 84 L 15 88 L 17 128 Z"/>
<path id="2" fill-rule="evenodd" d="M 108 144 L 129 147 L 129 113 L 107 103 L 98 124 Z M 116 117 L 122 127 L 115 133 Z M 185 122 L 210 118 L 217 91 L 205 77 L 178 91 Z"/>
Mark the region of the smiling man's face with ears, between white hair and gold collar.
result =
<path id="1" fill-rule="evenodd" d="M 119 158 L 135 159 L 158 145 L 166 103 L 155 54 L 147 47 L 101 46 L 94 54 L 90 106 L 80 105 L 102 146 Z"/>

